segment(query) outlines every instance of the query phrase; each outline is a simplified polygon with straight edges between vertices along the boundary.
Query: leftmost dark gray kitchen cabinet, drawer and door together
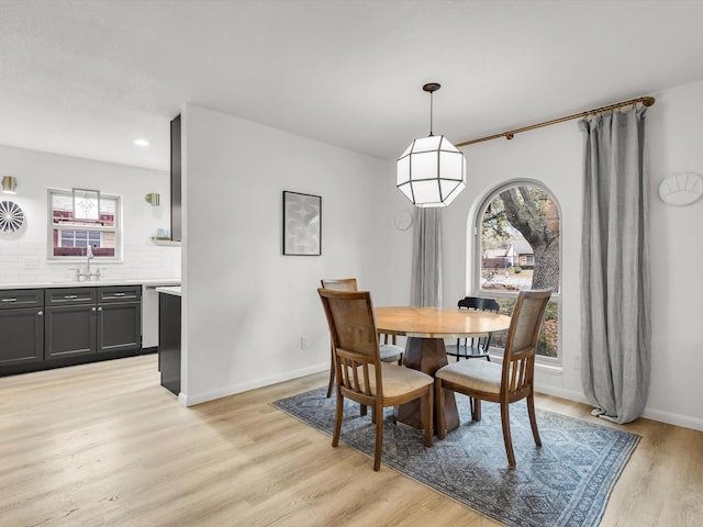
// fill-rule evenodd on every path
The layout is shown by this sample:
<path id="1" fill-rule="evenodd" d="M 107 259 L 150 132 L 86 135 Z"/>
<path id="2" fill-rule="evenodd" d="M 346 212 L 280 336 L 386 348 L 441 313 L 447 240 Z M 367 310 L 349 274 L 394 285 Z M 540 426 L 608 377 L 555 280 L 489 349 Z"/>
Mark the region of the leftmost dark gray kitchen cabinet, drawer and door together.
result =
<path id="1" fill-rule="evenodd" d="M 0 291 L 0 367 L 44 359 L 44 290 Z"/>

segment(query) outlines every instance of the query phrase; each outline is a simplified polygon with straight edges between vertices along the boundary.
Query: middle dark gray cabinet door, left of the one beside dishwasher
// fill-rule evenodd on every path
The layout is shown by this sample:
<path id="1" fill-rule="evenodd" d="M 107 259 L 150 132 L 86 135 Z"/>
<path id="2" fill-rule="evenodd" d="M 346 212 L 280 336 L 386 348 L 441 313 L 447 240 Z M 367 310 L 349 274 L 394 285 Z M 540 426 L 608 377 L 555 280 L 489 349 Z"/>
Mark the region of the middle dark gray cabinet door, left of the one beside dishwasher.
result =
<path id="1" fill-rule="evenodd" d="M 46 359 L 96 352 L 96 306 L 62 305 L 47 307 L 45 329 Z"/>

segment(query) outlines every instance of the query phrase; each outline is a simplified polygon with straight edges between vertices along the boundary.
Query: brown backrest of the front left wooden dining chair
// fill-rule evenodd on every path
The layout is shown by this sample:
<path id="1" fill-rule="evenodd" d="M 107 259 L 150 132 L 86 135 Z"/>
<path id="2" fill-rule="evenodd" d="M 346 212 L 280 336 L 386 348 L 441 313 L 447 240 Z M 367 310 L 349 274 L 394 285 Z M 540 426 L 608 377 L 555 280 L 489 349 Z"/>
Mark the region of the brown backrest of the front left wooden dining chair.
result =
<path id="1" fill-rule="evenodd" d="M 324 288 L 317 293 L 332 336 L 338 390 L 344 396 L 371 404 L 372 383 L 376 394 L 383 393 L 371 293 Z"/>

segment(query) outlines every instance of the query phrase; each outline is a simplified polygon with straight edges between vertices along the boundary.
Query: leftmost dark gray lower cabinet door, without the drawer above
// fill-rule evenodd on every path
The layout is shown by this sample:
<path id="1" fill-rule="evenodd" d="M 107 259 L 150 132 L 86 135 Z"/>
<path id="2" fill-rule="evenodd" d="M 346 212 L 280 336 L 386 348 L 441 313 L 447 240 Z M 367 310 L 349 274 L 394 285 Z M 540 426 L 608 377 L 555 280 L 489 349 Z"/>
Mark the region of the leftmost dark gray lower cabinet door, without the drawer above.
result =
<path id="1" fill-rule="evenodd" d="M 44 310 L 0 310 L 0 367 L 44 360 Z"/>

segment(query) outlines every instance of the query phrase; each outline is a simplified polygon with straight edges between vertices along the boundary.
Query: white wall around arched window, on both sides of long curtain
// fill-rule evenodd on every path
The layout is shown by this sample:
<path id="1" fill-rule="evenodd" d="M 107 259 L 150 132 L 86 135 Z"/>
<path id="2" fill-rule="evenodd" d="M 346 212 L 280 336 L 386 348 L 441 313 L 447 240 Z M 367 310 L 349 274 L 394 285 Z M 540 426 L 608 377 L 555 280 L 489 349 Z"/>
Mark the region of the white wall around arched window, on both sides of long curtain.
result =
<path id="1" fill-rule="evenodd" d="M 703 354 L 703 200 L 683 208 L 665 205 L 659 182 L 671 173 L 703 173 L 700 115 L 703 82 L 654 93 L 647 113 L 651 172 L 652 366 L 645 416 L 703 429 L 699 402 Z M 562 233 L 561 371 L 538 368 L 537 390 L 584 401 L 580 371 L 580 284 L 582 136 L 576 121 L 464 148 L 468 187 L 445 211 L 444 299 L 470 292 L 466 278 L 467 225 L 492 189 L 515 178 L 543 181 L 559 201 Z"/>

